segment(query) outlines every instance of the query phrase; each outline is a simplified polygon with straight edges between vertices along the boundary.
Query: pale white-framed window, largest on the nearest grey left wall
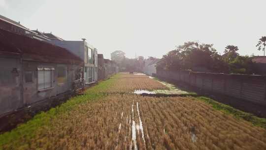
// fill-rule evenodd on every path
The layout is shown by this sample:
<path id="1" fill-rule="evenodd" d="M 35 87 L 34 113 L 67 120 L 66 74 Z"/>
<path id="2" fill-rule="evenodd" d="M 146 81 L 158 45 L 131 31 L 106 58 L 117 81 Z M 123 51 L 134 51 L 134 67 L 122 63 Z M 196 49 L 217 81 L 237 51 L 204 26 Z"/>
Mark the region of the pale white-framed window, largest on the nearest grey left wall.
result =
<path id="1" fill-rule="evenodd" d="M 43 68 L 38 69 L 38 90 L 52 87 L 52 71 L 54 68 Z"/>

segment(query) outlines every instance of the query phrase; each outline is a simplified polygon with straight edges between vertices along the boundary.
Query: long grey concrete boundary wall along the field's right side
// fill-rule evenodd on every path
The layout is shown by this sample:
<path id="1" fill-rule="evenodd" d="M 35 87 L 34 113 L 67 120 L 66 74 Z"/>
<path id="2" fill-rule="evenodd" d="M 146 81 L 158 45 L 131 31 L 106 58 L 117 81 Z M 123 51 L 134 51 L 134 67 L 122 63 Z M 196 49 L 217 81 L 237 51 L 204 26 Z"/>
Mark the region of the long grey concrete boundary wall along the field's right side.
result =
<path id="1" fill-rule="evenodd" d="M 182 81 L 201 90 L 232 96 L 266 106 L 266 76 L 225 75 L 157 70 L 159 78 Z"/>

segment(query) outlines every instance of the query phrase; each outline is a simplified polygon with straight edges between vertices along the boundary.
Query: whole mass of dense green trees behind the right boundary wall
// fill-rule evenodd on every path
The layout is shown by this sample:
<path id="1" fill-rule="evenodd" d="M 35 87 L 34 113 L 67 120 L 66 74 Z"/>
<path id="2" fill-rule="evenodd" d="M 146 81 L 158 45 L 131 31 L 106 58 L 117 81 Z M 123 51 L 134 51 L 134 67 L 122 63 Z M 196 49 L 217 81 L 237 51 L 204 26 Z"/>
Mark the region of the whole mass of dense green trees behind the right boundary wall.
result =
<path id="1" fill-rule="evenodd" d="M 189 41 L 164 55 L 157 69 L 252 74 L 251 58 L 240 56 L 237 51 L 237 46 L 227 45 L 220 55 L 213 44 Z"/>

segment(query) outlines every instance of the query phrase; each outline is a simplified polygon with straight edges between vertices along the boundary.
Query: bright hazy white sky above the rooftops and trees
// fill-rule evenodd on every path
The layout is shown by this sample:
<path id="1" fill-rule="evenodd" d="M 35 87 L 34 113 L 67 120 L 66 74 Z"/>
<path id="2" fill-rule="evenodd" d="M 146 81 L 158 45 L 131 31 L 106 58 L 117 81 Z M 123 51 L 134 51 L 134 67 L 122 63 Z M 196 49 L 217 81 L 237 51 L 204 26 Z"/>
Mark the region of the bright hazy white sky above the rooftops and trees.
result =
<path id="1" fill-rule="evenodd" d="M 241 55 L 263 55 L 266 0 L 0 0 L 0 14 L 30 29 L 87 41 L 105 58 L 162 55 L 185 41 L 227 44 Z"/>

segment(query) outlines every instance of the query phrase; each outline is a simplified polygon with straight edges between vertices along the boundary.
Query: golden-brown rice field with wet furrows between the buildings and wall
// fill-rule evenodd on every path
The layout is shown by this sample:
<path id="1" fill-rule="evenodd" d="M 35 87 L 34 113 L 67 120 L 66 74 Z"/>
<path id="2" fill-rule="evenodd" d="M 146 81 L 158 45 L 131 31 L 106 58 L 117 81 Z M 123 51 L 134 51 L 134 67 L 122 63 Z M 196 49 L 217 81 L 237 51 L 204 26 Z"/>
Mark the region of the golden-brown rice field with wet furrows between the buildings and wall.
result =
<path id="1" fill-rule="evenodd" d="M 102 91 L 168 88 L 145 75 L 116 75 L 110 80 L 114 81 Z M 17 138 L 0 149 L 266 150 L 264 128 L 189 96 L 102 95 L 69 111 L 58 111 L 46 121 L 48 125 L 40 126 L 33 135 L 20 134 L 19 129 L 7 133 L 17 134 Z"/>

